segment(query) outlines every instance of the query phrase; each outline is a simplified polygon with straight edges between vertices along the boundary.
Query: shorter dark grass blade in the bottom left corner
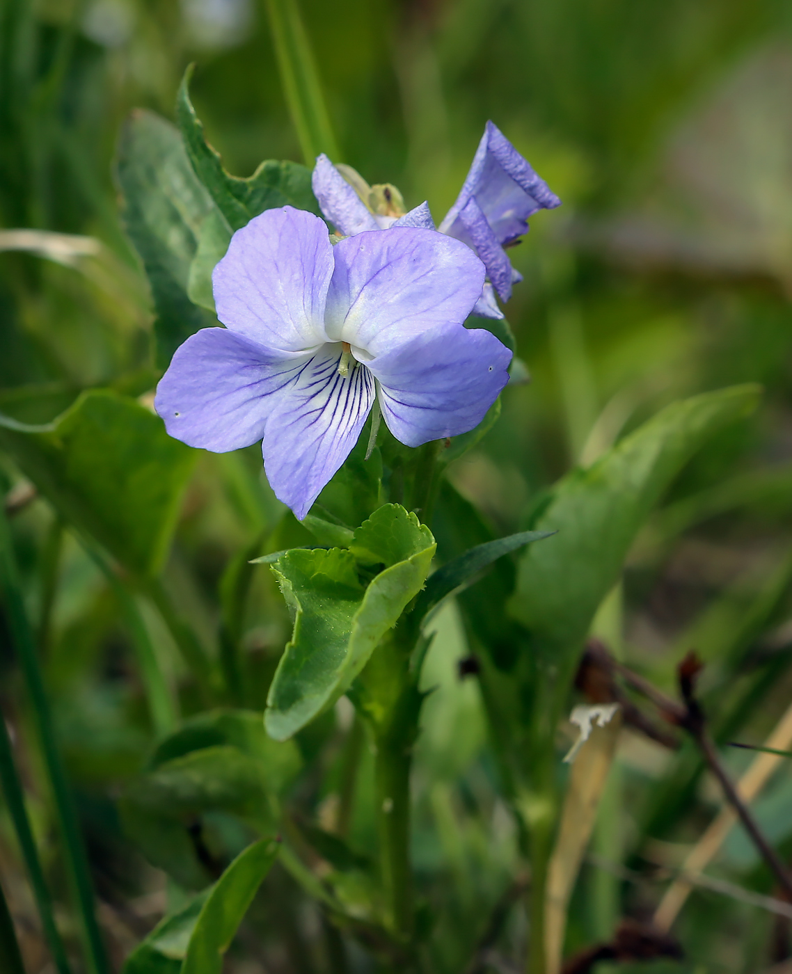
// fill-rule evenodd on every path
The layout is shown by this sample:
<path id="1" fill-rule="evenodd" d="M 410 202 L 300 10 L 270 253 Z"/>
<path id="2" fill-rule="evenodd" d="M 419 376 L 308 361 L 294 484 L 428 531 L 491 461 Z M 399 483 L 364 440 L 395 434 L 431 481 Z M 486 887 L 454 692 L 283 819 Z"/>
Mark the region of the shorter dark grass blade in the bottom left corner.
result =
<path id="1" fill-rule="evenodd" d="M 14 751 L 9 738 L 8 728 L 0 713 L 0 783 L 3 785 L 3 795 L 6 799 L 11 819 L 14 822 L 14 830 L 17 833 L 19 848 L 22 852 L 27 874 L 30 878 L 30 885 L 33 889 L 33 896 L 36 900 L 41 926 L 44 936 L 50 946 L 50 953 L 53 955 L 58 974 L 71 974 L 66 951 L 60 934 L 57 932 L 55 916 L 53 914 L 53 904 L 50 898 L 50 890 L 44 880 L 44 870 L 41 868 L 41 860 L 36 850 L 36 843 L 33 839 L 33 830 L 30 828 L 30 819 L 27 817 L 27 809 L 24 806 L 24 792 L 17 768 L 14 764 Z M 2 891 L 0 891 L 2 897 Z M 0 914 L 4 903 L 0 903 Z M 9 917 L 9 920 L 11 918 Z M 3 918 L 0 916 L 0 927 L 3 925 Z M 14 925 L 11 927 L 12 933 Z M 4 946 L 7 938 L 0 932 L 0 953 L 5 949 L 7 952 L 11 948 Z M 15 938 L 16 942 L 16 938 Z M 9 954 L 10 955 L 10 954 Z M 11 956 L 11 955 L 10 955 Z"/>

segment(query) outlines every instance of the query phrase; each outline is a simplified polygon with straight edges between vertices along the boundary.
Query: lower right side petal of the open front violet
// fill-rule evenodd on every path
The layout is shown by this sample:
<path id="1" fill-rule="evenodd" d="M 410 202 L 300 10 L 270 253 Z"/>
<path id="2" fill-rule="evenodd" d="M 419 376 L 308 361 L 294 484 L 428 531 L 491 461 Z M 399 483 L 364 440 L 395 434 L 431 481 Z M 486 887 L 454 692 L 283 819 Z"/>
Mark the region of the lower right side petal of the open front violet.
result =
<path id="1" fill-rule="evenodd" d="M 368 366 L 380 383 L 388 429 L 407 446 L 477 426 L 509 382 L 511 353 L 483 328 L 449 324 L 418 335 Z"/>

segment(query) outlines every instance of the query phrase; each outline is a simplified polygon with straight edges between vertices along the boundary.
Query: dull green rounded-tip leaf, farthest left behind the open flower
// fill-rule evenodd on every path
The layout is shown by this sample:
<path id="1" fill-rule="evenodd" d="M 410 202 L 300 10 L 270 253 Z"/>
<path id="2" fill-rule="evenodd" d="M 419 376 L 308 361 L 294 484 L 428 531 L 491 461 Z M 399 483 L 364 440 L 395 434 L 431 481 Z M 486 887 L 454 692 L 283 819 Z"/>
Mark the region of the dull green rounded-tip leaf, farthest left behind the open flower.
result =
<path id="1" fill-rule="evenodd" d="M 153 112 L 132 112 L 119 140 L 116 175 L 124 225 L 151 284 L 157 363 L 166 368 L 186 338 L 216 324 L 187 293 L 204 221 L 214 204 L 190 166 L 178 131 Z"/>

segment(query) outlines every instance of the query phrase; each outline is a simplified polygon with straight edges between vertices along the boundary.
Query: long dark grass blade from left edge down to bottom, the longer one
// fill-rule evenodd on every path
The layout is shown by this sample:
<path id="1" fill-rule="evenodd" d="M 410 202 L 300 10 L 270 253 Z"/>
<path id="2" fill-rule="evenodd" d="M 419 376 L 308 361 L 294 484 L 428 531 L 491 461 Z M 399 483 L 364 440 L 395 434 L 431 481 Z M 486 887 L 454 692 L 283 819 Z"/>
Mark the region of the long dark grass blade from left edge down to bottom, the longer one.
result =
<path id="1" fill-rule="evenodd" d="M 91 974 L 109 974 L 104 944 L 94 913 L 94 887 L 85 847 L 77 823 L 73 796 L 57 753 L 55 730 L 30 622 L 25 615 L 17 563 L 5 514 L 0 511 L 0 587 L 9 629 L 19 665 L 30 694 L 45 767 L 55 799 L 57 822 L 63 839 L 64 858 L 82 920 L 83 944 Z"/>

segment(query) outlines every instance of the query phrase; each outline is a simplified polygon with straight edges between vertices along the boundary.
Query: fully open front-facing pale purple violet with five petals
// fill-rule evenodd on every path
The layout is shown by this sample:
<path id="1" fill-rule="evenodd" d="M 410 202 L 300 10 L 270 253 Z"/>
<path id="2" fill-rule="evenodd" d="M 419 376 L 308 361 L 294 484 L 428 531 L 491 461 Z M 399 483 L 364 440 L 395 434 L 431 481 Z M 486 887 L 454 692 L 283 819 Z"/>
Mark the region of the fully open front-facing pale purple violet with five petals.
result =
<path id="1" fill-rule="evenodd" d="M 511 353 L 463 321 L 484 267 L 433 230 L 361 232 L 333 246 L 319 217 L 268 209 L 212 274 L 217 317 L 176 350 L 155 407 L 171 436 L 224 453 L 263 438 L 273 490 L 303 518 L 377 397 L 407 446 L 472 430 Z"/>

